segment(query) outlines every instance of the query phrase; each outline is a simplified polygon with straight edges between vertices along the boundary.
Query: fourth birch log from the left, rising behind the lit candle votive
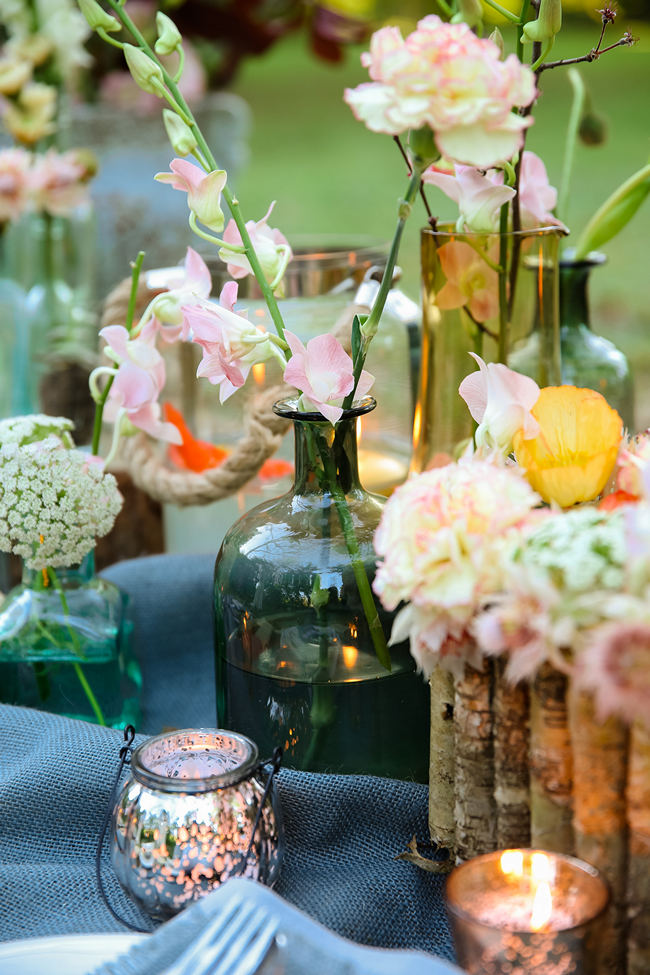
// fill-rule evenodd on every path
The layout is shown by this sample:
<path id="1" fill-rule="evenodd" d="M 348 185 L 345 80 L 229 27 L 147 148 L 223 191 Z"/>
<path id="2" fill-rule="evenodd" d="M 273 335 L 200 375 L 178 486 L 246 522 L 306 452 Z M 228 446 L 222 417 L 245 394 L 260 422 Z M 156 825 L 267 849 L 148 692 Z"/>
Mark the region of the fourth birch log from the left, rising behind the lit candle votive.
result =
<path id="1" fill-rule="evenodd" d="M 567 683 L 544 664 L 530 696 L 531 844 L 557 853 L 573 853 L 574 847 Z"/>

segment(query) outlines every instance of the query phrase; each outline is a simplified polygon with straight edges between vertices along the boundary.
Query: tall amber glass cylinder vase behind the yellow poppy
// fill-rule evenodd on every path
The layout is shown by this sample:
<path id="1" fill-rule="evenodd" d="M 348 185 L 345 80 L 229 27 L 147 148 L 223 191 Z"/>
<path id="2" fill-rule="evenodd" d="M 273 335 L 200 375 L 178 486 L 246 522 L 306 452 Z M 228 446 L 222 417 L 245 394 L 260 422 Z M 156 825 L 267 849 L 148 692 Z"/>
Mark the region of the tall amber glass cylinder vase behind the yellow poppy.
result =
<path id="1" fill-rule="evenodd" d="M 425 228 L 421 235 L 423 330 L 412 468 L 456 457 L 474 421 L 458 395 L 474 352 L 560 382 L 557 227 L 508 234 Z"/>

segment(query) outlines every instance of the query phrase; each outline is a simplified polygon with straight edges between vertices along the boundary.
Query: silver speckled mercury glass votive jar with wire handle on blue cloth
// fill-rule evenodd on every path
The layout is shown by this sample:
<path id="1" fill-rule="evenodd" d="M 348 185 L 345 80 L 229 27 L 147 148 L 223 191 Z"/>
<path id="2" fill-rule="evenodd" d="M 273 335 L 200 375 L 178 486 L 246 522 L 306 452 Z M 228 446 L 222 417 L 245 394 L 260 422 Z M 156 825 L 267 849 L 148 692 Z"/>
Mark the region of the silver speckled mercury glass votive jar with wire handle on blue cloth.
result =
<path id="1" fill-rule="evenodd" d="M 244 735 L 186 729 L 138 745 L 112 820 L 111 860 L 126 892 L 168 918 L 230 877 L 272 886 L 283 831 L 273 786 L 258 819 L 264 790 L 257 745 Z"/>

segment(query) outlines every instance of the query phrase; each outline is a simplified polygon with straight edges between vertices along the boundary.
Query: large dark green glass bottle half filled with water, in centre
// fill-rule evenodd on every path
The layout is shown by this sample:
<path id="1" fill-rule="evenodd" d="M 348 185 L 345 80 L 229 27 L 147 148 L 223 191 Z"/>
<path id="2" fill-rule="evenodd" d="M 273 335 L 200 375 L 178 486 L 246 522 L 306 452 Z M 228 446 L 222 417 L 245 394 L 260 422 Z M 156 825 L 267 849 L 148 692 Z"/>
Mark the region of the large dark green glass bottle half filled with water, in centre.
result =
<path id="1" fill-rule="evenodd" d="M 356 427 L 373 406 L 336 428 L 276 406 L 294 424 L 295 483 L 236 522 L 217 556 L 218 723 L 263 755 L 281 745 L 293 768 L 424 782 L 428 688 L 408 643 L 390 648 L 390 669 L 380 660 L 377 626 L 388 639 L 394 614 L 370 588 L 385 499 L 361 486 Z"/>

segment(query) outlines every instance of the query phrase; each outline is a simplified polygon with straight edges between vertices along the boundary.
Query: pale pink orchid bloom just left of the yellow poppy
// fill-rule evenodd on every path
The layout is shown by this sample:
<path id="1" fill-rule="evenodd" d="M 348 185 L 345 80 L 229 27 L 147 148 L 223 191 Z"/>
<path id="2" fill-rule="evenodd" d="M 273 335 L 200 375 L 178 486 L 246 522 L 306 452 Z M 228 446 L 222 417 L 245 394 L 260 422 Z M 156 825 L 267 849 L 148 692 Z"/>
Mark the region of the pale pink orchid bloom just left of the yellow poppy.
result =
<path id="1" fill-rule="evenodd" d="M 479 424 L 476 445 L 510 453 L 518 430 L 523 429 L 525 439 L 539 432 L 539 424 L 530 412 L 539 397 L 539 386 L 534 379 L 501 362 L 486 364 L 473 352 L 470 355 L 478 363 L 479 372 L 465 376 L 458 392 Z"/>

